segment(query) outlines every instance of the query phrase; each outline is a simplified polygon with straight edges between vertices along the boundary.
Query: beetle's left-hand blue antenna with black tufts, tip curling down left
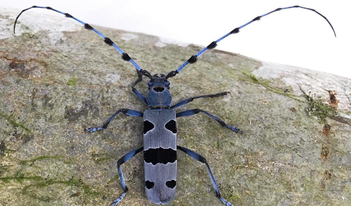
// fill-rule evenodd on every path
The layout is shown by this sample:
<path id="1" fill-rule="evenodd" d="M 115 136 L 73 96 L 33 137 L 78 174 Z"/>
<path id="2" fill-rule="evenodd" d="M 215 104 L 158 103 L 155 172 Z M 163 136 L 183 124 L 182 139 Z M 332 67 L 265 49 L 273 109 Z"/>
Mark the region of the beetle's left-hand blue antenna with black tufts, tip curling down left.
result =
<path id="1" fill-rule="evenodd" d="M 113 46 L 120 54 L 121 54 L 121 58 L 122 60 L 124 61 L 129 61 L 131 62 L 135 68 L 137 68 L 138 71 L 140 71 L 143 75 L 149 77 L 149 78 L 152 78 L 150 73 L 148 73 L 148 71 L 146 70 L 143 70 L 140 68 L 140 66 L 134 62 L 134 60 L 127 54 L 125 53 L 121 48 L 119 48 L 115 43 L 112 42 L 112 40 L 108 37 L 106 37 L 104 34 L 101 34 L 98 30 L 94 29 L 92 26 L 90 26 L 89 24 L 85 23 L 85 22 L 82 22 L 81 20 L 75 18 L 74 16 L 72 16 L 71 14 L 68 14 L 68 13 L 65 13 L 65 12 L 61 12 L 61 11 L 58 11 L 56 9 L 53 9 L 51 7 L 48 7 L 48 6 L 32 6 L 32 7 L 29 7 L 29 8 L 26 8 L 24 10 L 21 11 L 21 13 L 17 16 L 16 20 L 15 20 L 15 24 L 13 26 L 13 33 L 15 33 L 15 28 L 16 28 L 16 23 L 17 23 L 17 20 L 18 18 L 20 17 L 20 15 L 27 11 L 28 9 L 31 9 L 31 8 L 45 8 L 45 9 L 49 9 L 49 10 L 52 10 L 52 11 L 55 11 L 55 12 L 58 12 L 60 14 L 63 14 L 65 15 L 67 18 L 72 18 L 76 21 L 78 21 L 79 23 L 81 23 L 82 25 L 84 25 L 84 28 L 85 29 L 88 29 L 88 30 L 92 30 L 94 31 L 95 33 L 97 33 L 99 36 L 101 36 L 102 38 L 104 38 L 104 42 L 109 45 L 109 46 Z"/>

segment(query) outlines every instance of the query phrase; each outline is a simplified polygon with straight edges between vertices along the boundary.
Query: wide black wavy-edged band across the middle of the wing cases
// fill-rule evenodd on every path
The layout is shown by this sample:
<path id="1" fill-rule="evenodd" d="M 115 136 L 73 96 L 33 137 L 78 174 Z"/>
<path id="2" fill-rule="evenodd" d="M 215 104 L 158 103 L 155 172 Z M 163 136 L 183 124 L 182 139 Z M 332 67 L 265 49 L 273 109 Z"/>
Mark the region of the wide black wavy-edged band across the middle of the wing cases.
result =
<path id="1" fill-rule="evenodd" d="M 152 163 L 153 165 L 174 163 L 177 160 L 177 150 L 172 148 L 163 149 L 162 147 L 150 148 L 144 151 L 144 160 L 146 163 Z"/>

